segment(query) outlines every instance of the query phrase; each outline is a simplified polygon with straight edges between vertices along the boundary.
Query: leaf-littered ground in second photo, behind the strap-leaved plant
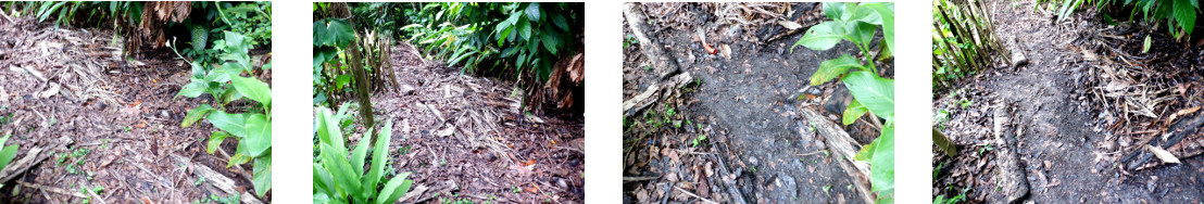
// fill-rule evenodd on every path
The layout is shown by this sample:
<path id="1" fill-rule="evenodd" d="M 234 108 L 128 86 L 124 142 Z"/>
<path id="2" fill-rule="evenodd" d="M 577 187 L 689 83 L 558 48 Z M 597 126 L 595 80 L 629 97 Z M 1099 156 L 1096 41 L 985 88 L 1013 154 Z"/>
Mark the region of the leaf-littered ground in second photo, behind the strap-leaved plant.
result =
<path id="1" fill-rule="evenodd" d="M 397 82 L 413 89 L 377 91 L 372 107 L 377 126 L 393 121 L 390 168 L 413 173 L 402 202 L 584 202 L 582 113 L 520 114 L 514 82 L 460 74 L 408 44 L 393 50 Z"/>

